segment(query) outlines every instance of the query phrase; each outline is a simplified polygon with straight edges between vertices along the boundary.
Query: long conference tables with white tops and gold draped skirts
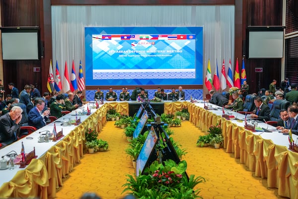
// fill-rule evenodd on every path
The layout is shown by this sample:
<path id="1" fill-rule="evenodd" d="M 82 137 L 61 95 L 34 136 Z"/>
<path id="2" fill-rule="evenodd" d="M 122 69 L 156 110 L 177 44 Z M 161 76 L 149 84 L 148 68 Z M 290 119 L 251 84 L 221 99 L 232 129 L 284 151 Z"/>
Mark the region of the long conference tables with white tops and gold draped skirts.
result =
<path id="1" fill-rule="evenodd" d="M 78 116 L 81 118 L 81 124 L 61 125 L 69 118 L 74 119 L 75 111 L 56 121 L 57 131 L 63 129 L 64 137 L 61 140 L 38 143 L 39 132 L 53 131 L 54 123 L 50 123 L 28 135 L 33 139 L 23 138 L 0 149 L 1 156 L 12 150 L 20 153 L 23 142 L 26 153 L 35 147 L 38 156 L 26 168 L 21 169 L 17 165 L 13 170 L 0 170 L 0 198 L 55 198 L 56 189 L 63 186 L 62 179 L 73 170 L 74 165 L 79 163 L 83 156 L 84 132 L 88 128 L 100 132 L 106 123 L 106 112 L 112 107 L 128 115 L 129 103 L 130 101 L 105 102 L 99 105 L 98 109 L 92 107 L 94 103 L 91 103 L 91 114 Z M 226 120 L 222 117 L 222 107 L 209 105 L 215 109 L 204 109 L 204 103 L 164 101 L 164 113 L 175 113 L 182 108 L 188 108 L 190 122 L 203 132 L 207 132 L 211 125 L 221 124 L 224 150 L 227 153 L 234 153 L 234 157 L 239 158 L 240 163 L 245 164 L 256 177 L 267 178 L 268 187 L 278 188 L 280 196 L 297 199 L 298 153 L 288 150 L 288 136 L 278 131 L 252 132 L 244 128 L 244 115 L 225 110 L 237 118 Z M 83 106 L 84 110 L 86 106 Z M 77 109 L 77 113 L 80 111 L 81 109 Z M 263 122 L 259 122 L 258 126 L 270 130 L 274 128 Z M 293 138 L 296 141 L 298 136 L 293 135 Z"/>

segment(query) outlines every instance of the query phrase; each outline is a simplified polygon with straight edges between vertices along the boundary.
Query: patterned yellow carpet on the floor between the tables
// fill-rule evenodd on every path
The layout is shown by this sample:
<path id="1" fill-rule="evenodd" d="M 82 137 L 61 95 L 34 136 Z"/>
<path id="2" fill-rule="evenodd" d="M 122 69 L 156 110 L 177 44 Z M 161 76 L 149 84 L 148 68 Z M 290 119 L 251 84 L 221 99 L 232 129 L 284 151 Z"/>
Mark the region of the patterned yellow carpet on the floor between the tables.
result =
<path id="1" fill-rule="evenodd" d="M 233 154 L 224 149 L 196 147 L 196 140 L 203 135 L 199 128 L 189 121 L 182 122 L 182 127 L 172 127 L 174 140 L 187 149 L 184 160 L 187 161 L 188 175 L 203 176 L 206 183 L 201 188 L 200 196 L 204 199 L 276 199 L 277 189 L 267 188 L 267 180 L 255 178 L 254 173 L 239 164 Z M 64 185 L 57 192 L 57 199 L 78 199 L 85 192 L 93 192 L 102 199 L 121 199 L 125 194 L 122 185 L 126 174 L 134 174 L 130 158 L 124 150 L 128 142 L 123 129 L 109 121 L 100 132 L 99 138 L 107 140 L 109 150 L 85 154 L 81 163 L 64 179 Z"/>

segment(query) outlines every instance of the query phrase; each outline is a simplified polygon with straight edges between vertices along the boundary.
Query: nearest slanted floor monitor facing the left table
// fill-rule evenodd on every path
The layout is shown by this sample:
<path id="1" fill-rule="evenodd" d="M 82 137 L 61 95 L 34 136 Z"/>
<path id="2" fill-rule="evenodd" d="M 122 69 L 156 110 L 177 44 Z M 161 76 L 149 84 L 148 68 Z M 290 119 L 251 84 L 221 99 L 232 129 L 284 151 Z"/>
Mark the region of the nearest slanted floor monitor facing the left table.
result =
<path id="1" fill-rule="evenodd" d="M 143 173 L 145 167 L 148 167 L 154 160 L 156 160 L 156 154 L 154 155 L 154 147 L 157 143 L 157 134 L 153 127 L 145 140 L 145 143 L 141 149 L 140 155 L 136 161 L 136 175 L 139 176 Z"/>

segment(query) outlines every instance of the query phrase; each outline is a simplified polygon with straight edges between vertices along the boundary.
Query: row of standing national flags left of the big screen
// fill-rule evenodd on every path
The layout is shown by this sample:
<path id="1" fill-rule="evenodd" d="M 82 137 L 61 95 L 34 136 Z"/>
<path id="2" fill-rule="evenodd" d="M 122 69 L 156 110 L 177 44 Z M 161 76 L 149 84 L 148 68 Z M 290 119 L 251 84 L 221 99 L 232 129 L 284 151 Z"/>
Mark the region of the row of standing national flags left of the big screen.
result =
<path id="1" fill-rule="evenodd" d="M 57 92 L 61 91 L 64 93 L 67 93 L 69 91 L 74 92 L 77 89 L 79 91 L 83 91 L 85 89 L 85 82 L 84 82 L 83 67 L 82 67 L 81 61 L 79 61 L 79 71 L 78 71 L 77 81 L 76 81 L 76 75 L 75 75 L 74 60 L 73 60 L 71 79 L 68 73 L 67 62 L 65 62 L 64 79 L 62 83 L 60 78 L 60 73 L 59 73 L 58 61 L 56 60 L 56 71 L 55 71 L 55 77 L 54 77 L 52 60 L 51 60 L 48 81 L 47 81 L 47 88 L 50 93 L 54 92 L 54 90 L 56 90 Z"/>

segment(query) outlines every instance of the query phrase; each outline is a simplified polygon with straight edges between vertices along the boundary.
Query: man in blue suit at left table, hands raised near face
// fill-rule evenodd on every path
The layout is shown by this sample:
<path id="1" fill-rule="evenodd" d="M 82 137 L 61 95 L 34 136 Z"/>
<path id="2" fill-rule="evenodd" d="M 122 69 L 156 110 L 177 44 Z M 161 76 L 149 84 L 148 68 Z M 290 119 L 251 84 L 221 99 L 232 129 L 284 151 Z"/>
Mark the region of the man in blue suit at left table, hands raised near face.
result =
<path id="1" fill-rule="evenodd" d="M 35 100 L 35 106 L 28 113 L 28 125 L 34 126 L 37 129 L 42 128 L 46 125 L 47 117 L 49 116 L 50 111 L 42 110 L 45 107 L 45 101 L 42 99 Z"/>

